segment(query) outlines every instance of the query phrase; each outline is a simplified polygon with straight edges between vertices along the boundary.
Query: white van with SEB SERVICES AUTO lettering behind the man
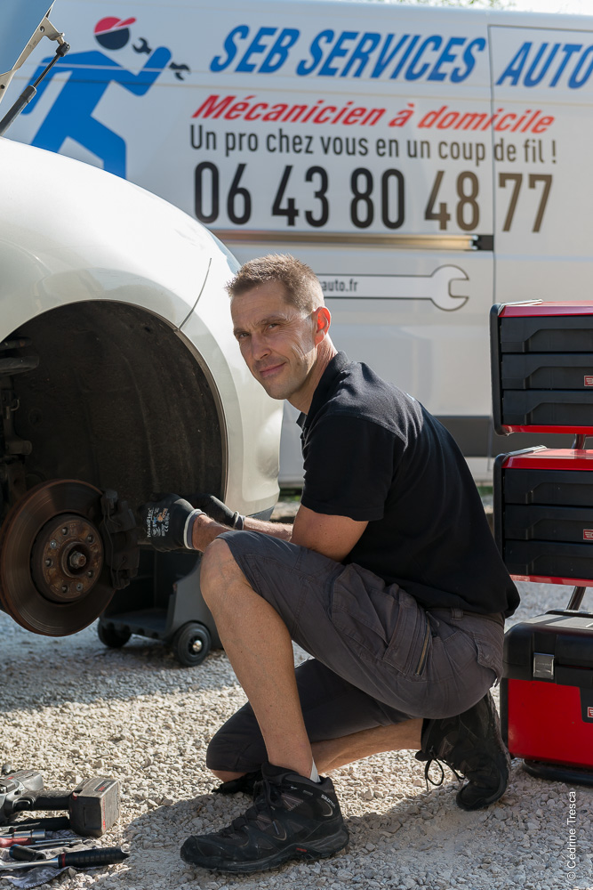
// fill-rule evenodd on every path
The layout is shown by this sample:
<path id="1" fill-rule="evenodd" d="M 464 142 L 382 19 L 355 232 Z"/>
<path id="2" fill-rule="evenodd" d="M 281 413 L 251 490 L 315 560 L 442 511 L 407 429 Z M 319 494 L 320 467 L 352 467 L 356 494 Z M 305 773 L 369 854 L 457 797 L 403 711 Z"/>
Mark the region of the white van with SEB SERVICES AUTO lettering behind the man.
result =
<path id="1" fill-rule="evenodd" d="M 155 191 L 242 262 L 298 255 L 336 345 L 487 478 L 504 449 L 490 306 L 593 280 L 593 18 L 317 0 L 60 14 L 71 52 L 11 137 Z M 301 479 L 288 428 L 284 484 Z"/>

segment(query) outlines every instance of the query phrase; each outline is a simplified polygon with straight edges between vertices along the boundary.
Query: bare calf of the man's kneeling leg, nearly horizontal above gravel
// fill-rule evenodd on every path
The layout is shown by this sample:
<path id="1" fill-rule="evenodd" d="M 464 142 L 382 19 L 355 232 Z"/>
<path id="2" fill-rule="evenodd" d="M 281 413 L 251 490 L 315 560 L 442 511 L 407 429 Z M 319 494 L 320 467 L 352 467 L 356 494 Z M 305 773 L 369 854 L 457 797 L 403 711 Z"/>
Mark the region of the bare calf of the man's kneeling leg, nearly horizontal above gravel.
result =
<path id="1" fill-rule="evenodd" d="M 340 739 L 316 741 L 311 746 L 319 773 L 329 773 L 340 766 L 363 760 L 385 751 L 421 748 L 422 719 L 405 720 L 391 726 L 375 726 L 344 735 Z M 225 773 L 212 770 L 220 781 L 238 779 L 244 773 Z"/>

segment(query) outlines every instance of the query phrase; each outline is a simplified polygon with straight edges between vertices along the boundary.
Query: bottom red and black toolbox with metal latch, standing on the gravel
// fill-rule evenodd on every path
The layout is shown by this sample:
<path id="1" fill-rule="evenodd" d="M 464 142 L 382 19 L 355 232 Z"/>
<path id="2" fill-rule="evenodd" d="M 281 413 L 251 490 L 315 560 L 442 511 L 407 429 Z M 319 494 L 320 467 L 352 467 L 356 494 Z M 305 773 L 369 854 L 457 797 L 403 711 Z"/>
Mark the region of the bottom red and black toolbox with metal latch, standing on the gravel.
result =
<path id="1" fill-rule="evenodd" d="M 504 641 L 501 728 L 511 756 L 593 765 L 593 613 L 550 611 Z"/>

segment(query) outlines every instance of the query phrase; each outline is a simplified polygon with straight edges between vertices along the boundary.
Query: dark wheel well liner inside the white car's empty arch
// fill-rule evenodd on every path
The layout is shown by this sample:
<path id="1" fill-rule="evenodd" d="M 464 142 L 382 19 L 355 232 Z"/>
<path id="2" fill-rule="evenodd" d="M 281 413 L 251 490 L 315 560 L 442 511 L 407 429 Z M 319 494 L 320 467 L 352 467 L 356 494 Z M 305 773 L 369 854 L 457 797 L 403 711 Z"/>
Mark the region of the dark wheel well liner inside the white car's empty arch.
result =
<path id="1" fill-rule="evenodd" d="M 219 401 L 178 333 L 126 303 L 70 303 L 18 330 L 35 370 L 15 376 L 27 485 L 55 478 L 116 489 L 134 507 L 156 491 L 223 496 Z"/>

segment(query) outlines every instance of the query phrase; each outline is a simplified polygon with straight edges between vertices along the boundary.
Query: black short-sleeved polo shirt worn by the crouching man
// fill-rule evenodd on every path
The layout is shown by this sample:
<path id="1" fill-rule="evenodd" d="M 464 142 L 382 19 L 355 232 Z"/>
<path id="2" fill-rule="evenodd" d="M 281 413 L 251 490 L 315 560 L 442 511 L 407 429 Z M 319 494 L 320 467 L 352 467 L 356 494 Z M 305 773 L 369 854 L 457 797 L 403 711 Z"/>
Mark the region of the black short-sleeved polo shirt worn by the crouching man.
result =
<path id="1" fill-rule="evenodd" d="M 420 402 L 338 352 L 301 414 L 301 503 L 368 525 L 343 562 L 425 608 L 512 615 L 519 595 L 468 465 Z"/>

